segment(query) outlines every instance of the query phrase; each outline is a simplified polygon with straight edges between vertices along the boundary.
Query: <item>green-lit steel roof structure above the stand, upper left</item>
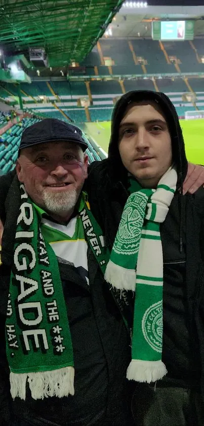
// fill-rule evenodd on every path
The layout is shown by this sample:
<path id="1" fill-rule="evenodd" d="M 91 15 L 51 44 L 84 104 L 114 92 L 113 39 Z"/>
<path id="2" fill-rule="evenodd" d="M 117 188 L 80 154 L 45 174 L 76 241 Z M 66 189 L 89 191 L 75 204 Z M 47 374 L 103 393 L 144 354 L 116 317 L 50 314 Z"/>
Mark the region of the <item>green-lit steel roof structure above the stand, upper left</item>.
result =
<path id="1" fill-rule="evenodd" d="M 43 48 L 50 67 L 81 62 L 122 4 L 123 0 L 0 0 L 1 46 L 6 53 L 23 52 L 27 57 L 29 48 Z"/>

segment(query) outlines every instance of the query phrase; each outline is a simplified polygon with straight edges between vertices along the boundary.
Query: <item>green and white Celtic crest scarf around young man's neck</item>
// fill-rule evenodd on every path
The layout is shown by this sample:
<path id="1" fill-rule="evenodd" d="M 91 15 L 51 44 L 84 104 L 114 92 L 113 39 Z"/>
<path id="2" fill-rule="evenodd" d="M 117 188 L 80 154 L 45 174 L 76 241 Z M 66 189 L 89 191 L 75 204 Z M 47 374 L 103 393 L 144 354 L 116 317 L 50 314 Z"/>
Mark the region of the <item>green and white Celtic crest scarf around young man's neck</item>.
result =
<path id="1" fill-rule="evenodd" d="M 177 184 L 169 169 L 156 189 L 142 189 L 131 179 L 130 196 L 121 217 L 105 279 L 120 290 L 135 291 L 132 361 L 127 378 L 161 379 L 163 255 L 160 223 L 164 222 Z"/>

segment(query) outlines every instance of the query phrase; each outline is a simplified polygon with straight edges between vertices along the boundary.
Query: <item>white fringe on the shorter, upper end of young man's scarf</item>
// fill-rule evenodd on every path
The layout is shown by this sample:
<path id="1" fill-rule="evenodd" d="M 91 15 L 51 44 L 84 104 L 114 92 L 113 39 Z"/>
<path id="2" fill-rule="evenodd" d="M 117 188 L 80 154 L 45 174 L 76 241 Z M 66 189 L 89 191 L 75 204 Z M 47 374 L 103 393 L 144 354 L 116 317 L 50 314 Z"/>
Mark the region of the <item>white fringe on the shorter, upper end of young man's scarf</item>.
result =
<path id="1" fill-rule="evenodd" d="M 118 290 L 135 291 L 136 271 L 134 269 L 123 268 L 109 260 L 104 278 Z"/>

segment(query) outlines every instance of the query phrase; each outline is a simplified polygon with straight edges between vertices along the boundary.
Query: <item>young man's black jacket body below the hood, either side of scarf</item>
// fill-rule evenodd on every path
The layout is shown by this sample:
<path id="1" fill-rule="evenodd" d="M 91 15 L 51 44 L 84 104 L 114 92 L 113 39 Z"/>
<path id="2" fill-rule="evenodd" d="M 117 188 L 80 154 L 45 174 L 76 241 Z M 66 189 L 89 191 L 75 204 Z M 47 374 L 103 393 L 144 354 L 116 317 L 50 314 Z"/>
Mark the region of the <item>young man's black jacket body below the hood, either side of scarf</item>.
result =
<path id="1" fill-rule="evenodd" d="M 114 175 L 112 161 L 107 159 L 92 163 L 87 181 L 92 186 L 93 214 L 110 249 L 128 198 L 127 188 Z M 160 227 L 164 256 L 162 359 L 171 383 L 198 390 L 201 386 L 204 397 L 204 189 L 182 196 L 182 235 L 180 198 L 177 191 Z"/>

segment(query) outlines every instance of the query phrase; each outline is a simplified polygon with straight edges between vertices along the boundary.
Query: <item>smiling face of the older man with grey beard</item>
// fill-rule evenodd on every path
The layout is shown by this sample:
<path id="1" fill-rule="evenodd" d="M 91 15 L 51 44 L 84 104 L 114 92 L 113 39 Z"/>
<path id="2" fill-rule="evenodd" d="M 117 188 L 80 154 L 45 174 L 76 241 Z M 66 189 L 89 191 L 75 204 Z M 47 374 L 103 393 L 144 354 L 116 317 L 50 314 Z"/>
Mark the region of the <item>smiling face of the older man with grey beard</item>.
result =
<path id="1" fill-rule="evenodd" d="M 74 208 L 87 178 L 88 156 L 73 142 L 49 142 L 21 151 L 18 179 L 35 204 L 49 213 Z"/>

